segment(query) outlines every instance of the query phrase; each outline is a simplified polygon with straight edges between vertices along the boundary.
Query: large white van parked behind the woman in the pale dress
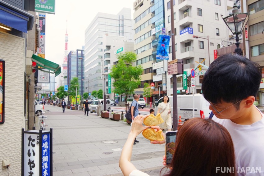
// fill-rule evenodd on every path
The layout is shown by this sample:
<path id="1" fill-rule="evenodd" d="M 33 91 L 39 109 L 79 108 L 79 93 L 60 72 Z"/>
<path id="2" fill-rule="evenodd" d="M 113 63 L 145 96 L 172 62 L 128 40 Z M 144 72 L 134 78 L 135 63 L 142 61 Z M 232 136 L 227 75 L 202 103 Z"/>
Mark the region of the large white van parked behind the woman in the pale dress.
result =
<path id="1" fill-rule="evenodd" d="M 173 96 L 168 96 L 170 98 L 169 103 L 171 104 L 171 116 L 173 116 Z M 155 103 L 155 114 L 158 111 L 158 104 L 162 102 L 163 97 L 161 97 L 157 103 Z M 182 121 L 185 119 L 193 118 L 193 95 L 177 95 L 177 105 L 178 105 L 178 119 L 181 116 Z M 202 94 L 194 95 L 194 116 L 209 118 L 211 111 L 209 110 L 210 103 L 207 102 Z"/>

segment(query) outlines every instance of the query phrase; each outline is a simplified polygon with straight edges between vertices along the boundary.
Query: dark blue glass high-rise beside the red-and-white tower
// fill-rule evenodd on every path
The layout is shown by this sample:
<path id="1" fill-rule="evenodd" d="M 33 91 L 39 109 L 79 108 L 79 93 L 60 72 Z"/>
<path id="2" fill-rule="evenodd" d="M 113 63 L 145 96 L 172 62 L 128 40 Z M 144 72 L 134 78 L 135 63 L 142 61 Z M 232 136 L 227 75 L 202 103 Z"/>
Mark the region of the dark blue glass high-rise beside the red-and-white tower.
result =
<path id="1" fill-rule="evenodd" d="M 71 79 L 77 77 L 79 82 L 78 94 L 82 96 L 84 94 L 84 50 L 77 49 L 76 52 L 71 51 L 67 58 L 67 84 L 70 86 Z"/>

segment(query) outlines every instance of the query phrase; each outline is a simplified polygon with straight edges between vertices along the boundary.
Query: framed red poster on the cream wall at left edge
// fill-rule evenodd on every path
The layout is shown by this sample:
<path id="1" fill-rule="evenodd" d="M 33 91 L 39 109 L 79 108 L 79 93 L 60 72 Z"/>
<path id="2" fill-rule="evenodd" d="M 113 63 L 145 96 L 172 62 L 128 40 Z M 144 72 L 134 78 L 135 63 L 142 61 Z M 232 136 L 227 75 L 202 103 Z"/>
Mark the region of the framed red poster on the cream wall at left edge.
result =
<path id="1" fill-rule="evenodd" d="M 0 124 L 5 122 L 5 61 L 0 59 Z"/>

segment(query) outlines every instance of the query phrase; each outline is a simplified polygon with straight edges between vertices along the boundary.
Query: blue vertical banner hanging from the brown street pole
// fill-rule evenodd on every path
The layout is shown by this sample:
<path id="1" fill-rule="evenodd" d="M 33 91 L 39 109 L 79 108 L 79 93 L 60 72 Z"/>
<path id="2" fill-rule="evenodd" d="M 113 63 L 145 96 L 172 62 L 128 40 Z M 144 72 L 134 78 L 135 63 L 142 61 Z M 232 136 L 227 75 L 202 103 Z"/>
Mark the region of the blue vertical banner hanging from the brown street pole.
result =
<path id="1" fill-rule="evenodd" d="M 169 35 L 159 35 L 156 59 L 169 60 Z"/>

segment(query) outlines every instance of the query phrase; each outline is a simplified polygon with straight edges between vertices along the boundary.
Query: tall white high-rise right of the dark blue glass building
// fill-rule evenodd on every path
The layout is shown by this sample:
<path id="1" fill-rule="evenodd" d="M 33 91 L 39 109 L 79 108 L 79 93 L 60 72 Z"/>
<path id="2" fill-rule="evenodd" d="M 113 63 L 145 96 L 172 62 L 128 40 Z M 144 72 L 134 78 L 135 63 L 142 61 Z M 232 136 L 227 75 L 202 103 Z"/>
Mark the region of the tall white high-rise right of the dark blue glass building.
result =
<path id="1" fill-rule="evenodd" d="M 123 8 L 117 15 L 99 12 L 85 30 L 84 75 L 85 92 L 103 90 L 103 35 L 124 36 L 132 40 L 131 9 Z M 90 83 L 90 84 L 89 84 Z"/>

